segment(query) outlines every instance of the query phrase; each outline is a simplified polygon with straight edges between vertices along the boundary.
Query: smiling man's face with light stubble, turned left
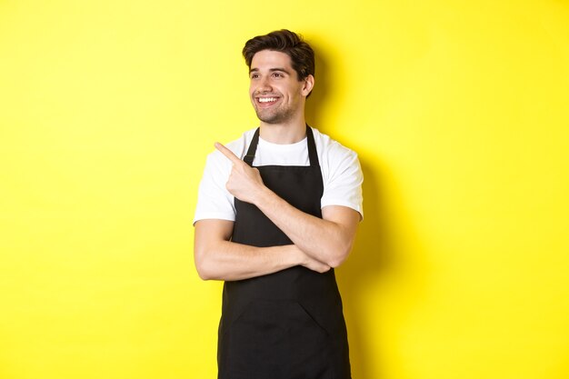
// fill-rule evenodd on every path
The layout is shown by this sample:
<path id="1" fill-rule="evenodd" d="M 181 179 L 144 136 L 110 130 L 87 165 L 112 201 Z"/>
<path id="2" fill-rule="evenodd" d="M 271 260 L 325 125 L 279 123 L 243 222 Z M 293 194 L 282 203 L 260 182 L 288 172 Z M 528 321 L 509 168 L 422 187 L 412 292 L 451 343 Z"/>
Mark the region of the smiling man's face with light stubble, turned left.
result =
<path id="1" fill-rule="evenodd" d="M 304 98 L 308 95 L 305 81 L 298 81 L 290 56 L 273 50 L 256 53 L 249 78 L 249 95 L 259 120 L 286 124 L 304 112 Z"/>

